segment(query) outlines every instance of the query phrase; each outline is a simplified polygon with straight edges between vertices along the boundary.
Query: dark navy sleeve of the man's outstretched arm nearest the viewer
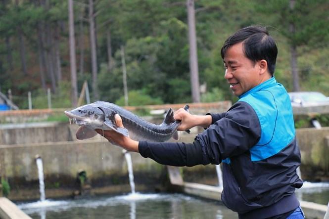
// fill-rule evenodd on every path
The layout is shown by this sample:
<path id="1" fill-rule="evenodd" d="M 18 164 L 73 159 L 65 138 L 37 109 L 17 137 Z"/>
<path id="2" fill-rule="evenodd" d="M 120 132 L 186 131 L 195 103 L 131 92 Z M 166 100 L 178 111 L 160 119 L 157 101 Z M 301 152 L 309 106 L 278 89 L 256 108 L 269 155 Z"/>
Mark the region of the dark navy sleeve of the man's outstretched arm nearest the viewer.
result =
<path id="1" fill-rule="evenodd" d="M 220 164 L 223 159 L 244 153 L 258 142 L 260 123 L 249 104 L 237 102 L 225 114 L 216 115 L 215 118 L 222 118 L 198 134 L 193 143 L 140 141 L 141 156 L 180 167 Z"/>

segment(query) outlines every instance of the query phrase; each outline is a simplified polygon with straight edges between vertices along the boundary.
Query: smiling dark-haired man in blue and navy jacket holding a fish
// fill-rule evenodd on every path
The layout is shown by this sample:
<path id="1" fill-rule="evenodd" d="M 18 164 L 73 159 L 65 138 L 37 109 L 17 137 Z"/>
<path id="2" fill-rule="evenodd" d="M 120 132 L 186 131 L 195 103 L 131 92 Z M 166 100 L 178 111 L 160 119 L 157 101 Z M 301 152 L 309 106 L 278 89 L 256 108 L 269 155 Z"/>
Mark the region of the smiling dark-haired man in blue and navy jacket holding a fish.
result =
<path id="1" fill-rule="evenodd" d="M 294 194 L 302 181 L 296 174 L 300 151 L 292 108 L 285 88 L 273 76 L 277 53 L 273 38 L 259 26 L 243 28 L 225 41 L 225 79 L 239 100 L 225 113 L 176 111 L 180 131 L 206 128 L 193 143 L 138 142 L 114 131 L 105 137 L 161 164 L 223 163 L 222 201 L 241 219 L 304 218 Z M 116 120 L 122 126 L 118 115 Z"/>

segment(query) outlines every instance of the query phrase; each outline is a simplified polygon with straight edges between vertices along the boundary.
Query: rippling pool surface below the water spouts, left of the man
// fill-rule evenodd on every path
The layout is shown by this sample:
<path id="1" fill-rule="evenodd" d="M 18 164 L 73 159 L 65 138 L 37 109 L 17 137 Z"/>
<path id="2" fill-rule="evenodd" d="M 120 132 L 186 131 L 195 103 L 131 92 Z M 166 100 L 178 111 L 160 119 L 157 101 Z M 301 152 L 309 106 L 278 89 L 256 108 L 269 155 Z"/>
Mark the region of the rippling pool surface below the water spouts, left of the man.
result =
<path id="1" fill-rule="evenodd" d="M 18 207 L 33 219 L 237 219 L 237 214 L 215 201 L 182 194 L 128 194 L 79 200 L 46 200 Z"/>

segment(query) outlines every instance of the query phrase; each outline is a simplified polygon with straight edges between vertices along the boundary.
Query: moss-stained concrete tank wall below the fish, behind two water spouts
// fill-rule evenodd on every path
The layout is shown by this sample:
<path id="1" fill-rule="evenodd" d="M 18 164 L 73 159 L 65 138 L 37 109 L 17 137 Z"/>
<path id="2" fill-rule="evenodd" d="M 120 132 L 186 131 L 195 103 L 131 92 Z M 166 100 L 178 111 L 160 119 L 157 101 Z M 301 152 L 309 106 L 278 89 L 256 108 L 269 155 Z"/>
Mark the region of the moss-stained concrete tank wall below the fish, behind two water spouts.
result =
<path id="1" fill-rule="evenodd" d="M 39 198 L 36 155 L 43 159 L 48 198 L 72 195 L 78 189 L 77 173 L 81 170 L 87 172 L 91 185 L 98 189 L 95 193 L 130 191 L 122 149 L 105 140 L 2 145 L 0 173 L 11 186 L 10 199 Z M 137 190 L 161 189 L 156 187 L 161 184 L 165 167 L 137 153 L 131 155 Z M 112 188 L 106 190 L 108 186 Z"/>

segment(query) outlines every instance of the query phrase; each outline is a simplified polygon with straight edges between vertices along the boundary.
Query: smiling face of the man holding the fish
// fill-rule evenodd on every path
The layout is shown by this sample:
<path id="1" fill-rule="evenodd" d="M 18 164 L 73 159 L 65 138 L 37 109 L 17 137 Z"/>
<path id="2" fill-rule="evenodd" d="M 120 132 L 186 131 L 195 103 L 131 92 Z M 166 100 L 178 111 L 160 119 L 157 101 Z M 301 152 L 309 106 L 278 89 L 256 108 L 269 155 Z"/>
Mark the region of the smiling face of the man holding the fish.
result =
<path id="1" fill-rule="evenodd" d="M 262 61 L 253 62 L 248 59 L 243 53 L 242 43 L 227 49 L 224 57 L 225 79 L 228 80 L 233 94 L 240 96 L 270 78 L 269 74 L 263 74 Z"/>

